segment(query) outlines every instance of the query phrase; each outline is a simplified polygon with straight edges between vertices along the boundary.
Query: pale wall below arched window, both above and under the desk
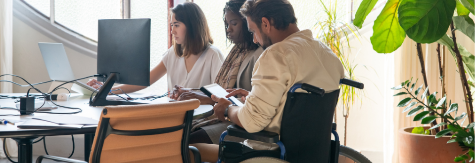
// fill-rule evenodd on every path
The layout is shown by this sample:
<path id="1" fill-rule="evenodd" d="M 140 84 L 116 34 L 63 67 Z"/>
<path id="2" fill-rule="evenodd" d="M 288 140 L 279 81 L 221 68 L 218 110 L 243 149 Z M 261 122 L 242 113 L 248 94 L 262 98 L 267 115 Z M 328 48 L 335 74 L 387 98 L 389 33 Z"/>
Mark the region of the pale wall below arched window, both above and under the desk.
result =
<path id="1" fill-rule="evenodd" d="M 13 74 L 25 78 L 30 83 L 49 81 L 49 76 L 41 56 L 38 42 L 57 42 L 31 28 L 21 20 L 13 17 Z M 96 73 L 96 59 L 84 55 L 65 46 L 68 60 L 76 78 L 94 75 Z M 26 84 L 19 78 L 14 82 Z M 83 80 L 82 82 L 87 82 Z M 50 83 L 35 86 L 41 91 L 48 91 Z M 28 87 L 13 85 L 14 93 L 26 93 Z M 84 157 L 84 136 L 75 135 L 75 151 L 73 158 Z M 54 156 L 67 157 L 72 151 L 71 136 L 47 137 L 48 153 Z M 43 143 L 33 145 L 34 155 L 44 155 Z"/>

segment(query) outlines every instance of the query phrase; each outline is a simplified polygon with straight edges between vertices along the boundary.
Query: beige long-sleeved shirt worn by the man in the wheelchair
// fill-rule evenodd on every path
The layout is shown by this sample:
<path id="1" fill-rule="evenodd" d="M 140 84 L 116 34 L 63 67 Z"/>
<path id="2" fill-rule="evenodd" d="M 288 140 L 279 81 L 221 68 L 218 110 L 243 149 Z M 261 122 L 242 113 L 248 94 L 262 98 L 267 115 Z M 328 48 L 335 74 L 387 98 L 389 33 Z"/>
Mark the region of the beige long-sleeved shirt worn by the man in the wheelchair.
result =
<path id="1" fill-rule="evenodd" d="M 287 92 L 292 85 L 308 83 L 332 92 L 338 89 L 342 78 L 343 66 L 332 50 L 314 39 L 310 30 L 296 32 L 269 46 L 257 60 L 252 90 L 238 110 L 239 121 L 248 132 L 280 134 Z M 247 145 L 253 147 L 252 142 L 247 141 Z"/>

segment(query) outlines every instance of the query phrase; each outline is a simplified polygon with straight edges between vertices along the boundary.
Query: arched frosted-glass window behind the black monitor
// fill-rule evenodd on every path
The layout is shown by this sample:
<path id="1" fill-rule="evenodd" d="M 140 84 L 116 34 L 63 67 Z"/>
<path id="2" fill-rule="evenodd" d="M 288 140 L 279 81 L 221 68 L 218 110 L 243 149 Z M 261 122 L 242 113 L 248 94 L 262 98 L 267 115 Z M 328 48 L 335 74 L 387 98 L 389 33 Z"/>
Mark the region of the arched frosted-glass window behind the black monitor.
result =
<path id="1" fill-rule="evenodd" d="M 54 23 L 92 41 L 97 41 L 98 19 L 121 19 L 124 9 L 130 18 L 151 18 L 150 69 L 168 49 L 168 0 L 130 0 L 130 9 L 123 8 L 123 0 L 54 0 L 54 6 L 50 0 L 22 1 L 47 18 L 54 8 Z M 159 95 L 167 92 L 167 76 L 141 92 L 148 91 Z"/>

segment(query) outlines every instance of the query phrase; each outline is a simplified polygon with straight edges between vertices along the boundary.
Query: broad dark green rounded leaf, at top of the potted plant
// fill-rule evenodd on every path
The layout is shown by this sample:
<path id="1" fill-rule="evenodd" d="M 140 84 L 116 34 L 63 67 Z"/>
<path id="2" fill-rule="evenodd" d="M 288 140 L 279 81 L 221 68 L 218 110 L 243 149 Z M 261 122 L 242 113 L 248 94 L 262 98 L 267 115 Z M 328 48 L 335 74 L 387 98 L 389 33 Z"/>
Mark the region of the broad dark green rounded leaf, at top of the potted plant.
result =
<path id="1" fill-rule="evenodd" d="M 455 0 L 402 0 L 399 24 L 412 40 L 432 43 L 447 32 L 456 5 Z"/>

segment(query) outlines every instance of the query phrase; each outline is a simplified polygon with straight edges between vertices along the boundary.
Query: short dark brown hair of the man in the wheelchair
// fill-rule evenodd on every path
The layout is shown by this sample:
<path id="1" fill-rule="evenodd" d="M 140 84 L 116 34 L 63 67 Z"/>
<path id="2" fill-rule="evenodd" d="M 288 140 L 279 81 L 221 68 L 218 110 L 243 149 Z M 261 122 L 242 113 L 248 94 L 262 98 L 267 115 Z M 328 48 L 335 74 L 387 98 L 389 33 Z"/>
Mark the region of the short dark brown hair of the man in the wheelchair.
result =
<path id="1" fill-rule="evenodd" d="M 288 0 L 247 0 L 239 12 L 244 17 L 249 16 L 259 29 L 263 17 L 273 21 L 272 25 L 277 30 L 286 30 L 290 23 L 297 23 L 295 12 Z"/>

